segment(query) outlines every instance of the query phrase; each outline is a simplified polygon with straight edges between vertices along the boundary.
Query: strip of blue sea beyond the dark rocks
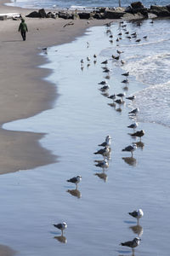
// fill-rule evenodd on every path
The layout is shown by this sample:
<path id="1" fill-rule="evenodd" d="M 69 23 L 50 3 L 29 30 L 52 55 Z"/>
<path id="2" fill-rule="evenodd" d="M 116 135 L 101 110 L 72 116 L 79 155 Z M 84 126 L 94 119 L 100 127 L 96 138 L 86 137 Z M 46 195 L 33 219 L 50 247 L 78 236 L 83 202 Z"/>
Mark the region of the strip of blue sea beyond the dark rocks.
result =
<path id="1" fill-rule="evenodd" d="M 122 0 L 122 7 L 127 7 L 130 3 L 135 1 L 130 0 Z M 167 5 L 169 4 L 168 0 L 150 0 L 150 1 L 142 1 L 144 6 L 150 7 L 150 5 Z M 11 4 L 14 6 L 20 6 L 23 8 L 45 8 L 52 9 L 54 8 L 71 8 L 71 6 L 79 6 L 79 7 L 117 7 L 119 6 L 119 0 L 11 0 Z"/>

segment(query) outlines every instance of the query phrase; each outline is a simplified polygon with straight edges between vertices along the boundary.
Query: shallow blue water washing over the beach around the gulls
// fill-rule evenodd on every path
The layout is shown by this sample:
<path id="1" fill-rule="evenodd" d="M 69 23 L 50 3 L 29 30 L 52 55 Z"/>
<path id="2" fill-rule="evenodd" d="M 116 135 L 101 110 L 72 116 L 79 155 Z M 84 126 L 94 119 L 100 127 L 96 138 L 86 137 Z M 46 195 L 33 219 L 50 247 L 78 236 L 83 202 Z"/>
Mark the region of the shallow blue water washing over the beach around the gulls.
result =
<path id="1" fill-rule="evenodd" d="M 42 147 L 59 155 L 59 162 L 53 165 L 1 176 L 1 243 L 14 248 L 17 256 L 169 255 L 170 160 L 169 145 L 165 143 L 170 139 L 169 127 L 167 123 L 139 122 L 138 130 L 145 131 L 141 143 L 129 136 L 131 131 L 127 128 L 133 120 L 144 118 L 143 110 L 133 119 L 128 115 L 137 101 L 146 96 L 149 100 L 153 93 L 159 100 L 162 92 L 153 89 L 154 86 L 162 87 L 162 91 L 166 84 L 167 90 L 168 73 L 167 79 L 161 73 L 161 84 L 157 68 L 154 84 L 154 79 L 147 79 L 148 68 L 142 60 L 152 56 L 153 66 L 157 67 L 154 55 L 161 55 L 169 65 L 168 30 L 158 30 L 162 26 L 167 28 L 169 20 L 156 20 L 153 24 L 144 20 L 142 24 L 126 25 L 130 33 L 137 32 L 141 42 L 135 42 L 134 38 L 129 41 L 121 24 L 116 22 L 109 27 L 111 32 L 106 26 L 89 28 L 74 42 L 54 46 L 48 49 L 47 55 L 42 53 L 50 61 L 42 68 L 53 69 L 47 80 L 55 83 L 59 91 L 54 108 L 3 125 L 7 130 L 47 133 L 40 142 Z M 116 42 L 121 31 L 122 39 Z M 111 33 L 113 42 L 109 38 Z M 144 35 L 148 36 L 146 41 Z M 121 55 L 124 65 L 112 60 L 111 55 L 117 55 L 116 49 L 124 51 Z M 105 65 L 101 65 L 106 59 L 110 73 L 104 73 Z M 142 69 L 138 76 L 138 70 Z M 129 84 L 123 84 L 122 73 L 127 71 Z M 136 102 L 132 105 L 125 100 L 122 106 L 111 105 L 112 101 L 99 90 L 99 82 L 106 75 L 110 76 L 106 79 L 111 86 L 108 94 L 135 93 Z M 149 96 L 147 93 L 143 96 L 145 90 L 150 90 Z M 164 100 L 167 95 L 164 93 Z M 154 103 L 159 101 L 152 100 L 152 106 Z M 154 114 L 155 107 L 150 108 L 150 115 Z M 102 172 L 95 166 L 95 160 L 102 157 L 94 152 L 108 134 L 112 137 L 111 158 L 109 168 Z M 133 158 L 122 152 L 131 143 L 138 143 Z M 74 184 L 66 180 L 77 174 L 82 175 L 82 183 L 75 191 Z M 127 213 L 138 208 L 144 211 L 140 226 Z M 53 224 L 62 221 L 68 228 L 61 239 Z M 119 245 L 135 236 L 140 236 L 142 241 L 134 254 L 128 247 Z"/>

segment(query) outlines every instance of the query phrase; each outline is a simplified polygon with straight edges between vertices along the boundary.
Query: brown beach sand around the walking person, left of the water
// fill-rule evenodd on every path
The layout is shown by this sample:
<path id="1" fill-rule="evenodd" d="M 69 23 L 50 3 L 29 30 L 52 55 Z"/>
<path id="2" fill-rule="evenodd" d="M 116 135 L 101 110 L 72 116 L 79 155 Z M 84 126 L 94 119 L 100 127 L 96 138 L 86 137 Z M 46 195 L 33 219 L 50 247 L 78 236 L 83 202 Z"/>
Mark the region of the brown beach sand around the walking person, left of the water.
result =
<path id="1" fill-rule="evenodd" d="M 26 16 L 31 9 L 4 6 L 0 14 L 16 12 Z M 43 47 L 71 42 L 81 36 L 88 26 L 103 25 L 108 20 L 71 20 L 26 18 L 29 32 L 22 41 L 20 20 L 0 20 L 0 124 L 26 119 L 53 108 L 57 98 L 55 84 L 43 78 L 50 70 L 39 68 L 46 60 L 38 55 Z M 109 20 L 111 21 L 111 20 Z M 65 27 L 64 27 L 65 26 Z M 43 134 L 0 129 L 0 174 L 31 169 L 53 163 L 57 157 L 39 144 Z"/>

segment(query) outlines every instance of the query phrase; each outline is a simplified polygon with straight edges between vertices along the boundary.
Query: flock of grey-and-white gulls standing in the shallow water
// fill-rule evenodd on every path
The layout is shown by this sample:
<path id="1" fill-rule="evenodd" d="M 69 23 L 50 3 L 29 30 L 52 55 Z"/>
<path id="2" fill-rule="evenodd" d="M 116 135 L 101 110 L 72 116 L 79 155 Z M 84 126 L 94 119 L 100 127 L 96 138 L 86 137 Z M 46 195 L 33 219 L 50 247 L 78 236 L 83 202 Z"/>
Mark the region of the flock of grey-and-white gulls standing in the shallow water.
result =
<path id="1" fill-rule="evenodd" d="M 106 27 L 107 27 L 106 33 L 109 35 L 110 42 L 112 44 L 114 37 L 111 33 L 110 26 L 111 26 L 111 23 L 106 24 Z M 128 38 L 130 40 L 134 38 L 136 43 L 139 43 L 142 40 L 140 38 L 137 38 L 137 33 L 136 32 L 133 32 L 133 33 L 130 34 L 127 31 L 127 24 L 124 21 L 120 22 L 120 29 L 121 29 L 121 32 L 118 33 L 117 38 L 116 38 L 116 46 L 119 46 L 118 42 L 120 40 L 122 40 L 123 32 L 124 32 L 126 38 Z M 143 39 L 146 40 L 147 36 L 144 36 Z M 89 47 L 88 42 L 87 42 L 87 47 Z M 120 61 L 120 64 L 124 65 L 125 61 L 123 61 L 121 59 L 121 55 L 122 55 L 123 51 L 120 50 L 120 49 L 117 49 L 116 53 L 118 55 L 111 55 L 111 60 Z M 89 67 L 90 66 L 90 61 L 91 61 L 89 56 L 87 57 L 87 61 L 88 61 L 88 67 Z M 81 69 L 83 70 L 84 60 L 82 59 L 80 62 L 81 62 Z M 94 55 L 94 64 L 96 64 L 96 62 L 97 62 L 97 55 Z M 109 60 L 105 60 L 105 61 L 101 62 L 103 72 L 106 73 L 106 76 L 105 76 L 105 80 L 98 83 L 99 85 L 102 85 L 99 88 L 99 90 L 102 92 L 102 94 L 104 96 L 106 96 L 108 99 L 111 99 L 113 101 L 112 103 L 109 103 L 108 105 L 115 108 L 116 104 L 117 104 L 117 105 L 119 105 L 119 108 L 117 108 L 116 110 L 117 111 L 122 111 L 122 109 L 120 107 L 124 103 L 123 98 L 126 97 L 126 99 L 128 101 L 133 102 L 133 100 L 135 99 L 135 96 L 134 95 L 133 96 L 126 96 L 125 92 L 121 92 L 119 94 L 113 94 L 113 95 L 109 94 L 110 85 L 108 84 L 107 79 L 110 79 L 111 69 L 107 66 L 108 63 L 109 63 Z M 130 75 L 129 72 L 122 73 L 122 76 L 126 77 L 126 79 L 122 80 L 123 84 L 129 84 L 129 79 L 128 79 L 129 75 Z M 133 119 L 135 119 L 137 113 L 139 113 L 139 108 L 134 108 L 132 111 L 128 112 L 129 117 L 133 118 Z M 133 133 L 129 133 L 129 135 L 132 136 L 132 137 L 139 137 L 139 142 L 132 143 L 132 145 L 128 145 L 127 147 L 122 149 L 123 152 L 130 152 L 132 159 L 133 159 L 134 150 L 138 147 L 138 143 L 141 143 L 141 137 L 144 136 L 144 130 L 135 131 L 136 128 L 138 127 L 138 125 L 139 124 L 137 122 L 134 122 L 133 124 L 128 125 L 127 128 L 133 129 Z M 105 179 L 105 169 L 107 169 L 109 167 L 109 160 L 111 159 L 111 139 L 112 139 L 111 136 L 107 135 L 105 137 L 105 141 L 98 145 L 100 147 L 99 150 L 94 152 L 95 155 L 101 155 L 103 157 L 102 160 L 94 160 L 95 166 L 100 167 L 100 168 L 103 169 L 102 173 L 100 173 L 100 174 L 96 173 L 95 175 L 98 175 L 99 177 L 104 178 L 104 179 Z M 81 182 L 81 180 L 82 180 L 82 176 L 80 176 L 80 175 L 77 175 L 76 177 L 71 177 L 70 179 L 67 180 L 67 182 L 74 183 L 76 185 L 76 189 L 74 189 L 72 191 L 77 190 L 77 185 L 78 185 L 78 183 Z M 70 192 L 70 191 L 68 190 L 68 192 Z M 137 219 L 137 226 L 136 227 L 140 227 L 139 226 L 139 219 L 144 216 L 144 212 L 142 211 L 142 209 L 135 210 L 133 212 L 128 212 L 128 213 L 129 213 L 130 216 Z M 65 222 L 60 223 L 60 224 L 54 224 L 54 227 L 61 230 L 61 237 L 62 237 L 63 236 L 63 231 L 67 228 L 67 224 Z M 132 241 L 121 242 L 120 245 L 123 246 L 123 247 L 131 247 L 132 251 L 133 251 L 134 247 L 139 246 L 139 241 L 140 240 L 141 239 L 139 237 L 135 237 Z"/>

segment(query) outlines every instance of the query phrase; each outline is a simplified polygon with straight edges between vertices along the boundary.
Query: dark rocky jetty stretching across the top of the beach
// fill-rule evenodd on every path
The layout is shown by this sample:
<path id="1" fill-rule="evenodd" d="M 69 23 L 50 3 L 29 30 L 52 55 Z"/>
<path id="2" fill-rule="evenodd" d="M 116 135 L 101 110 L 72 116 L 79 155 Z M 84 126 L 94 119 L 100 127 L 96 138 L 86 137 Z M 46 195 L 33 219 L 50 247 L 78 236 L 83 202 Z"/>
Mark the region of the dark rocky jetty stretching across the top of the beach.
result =
<path id="1" fill-rule="evenodd" d="M 170 17 L 170 4 L 167 6 L 151 5 L 150 8 L 145 8 L 141 2 L 133 2 L 127 8 L 96 8 L 92 11 L 78 11 L 72 10 L 58 10 L 56 12 L 48 12 L 44 9 L 33 11 L 26 17 L 31 18 L 62 18 L 65 20 L 75 19 L 125 19 L 125 20 L 137 20 L 147 19 L 150 15 L 155 17 Z"/>

